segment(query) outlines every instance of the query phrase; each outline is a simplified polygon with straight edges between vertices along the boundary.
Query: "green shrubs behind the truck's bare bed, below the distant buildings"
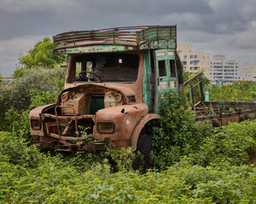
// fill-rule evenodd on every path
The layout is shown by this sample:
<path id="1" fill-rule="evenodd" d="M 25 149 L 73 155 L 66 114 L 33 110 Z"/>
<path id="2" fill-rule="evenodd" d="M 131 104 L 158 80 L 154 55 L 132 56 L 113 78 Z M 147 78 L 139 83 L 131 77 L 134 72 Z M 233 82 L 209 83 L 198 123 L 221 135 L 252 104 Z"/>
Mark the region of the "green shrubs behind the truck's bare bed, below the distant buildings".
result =
<path id="1" fill-rule="evenodd" d="M 212 84 L 207 88 L 210 100 L 253 101 L 256 87 L 252 82 L 235 82 L 233 84 Z"/>

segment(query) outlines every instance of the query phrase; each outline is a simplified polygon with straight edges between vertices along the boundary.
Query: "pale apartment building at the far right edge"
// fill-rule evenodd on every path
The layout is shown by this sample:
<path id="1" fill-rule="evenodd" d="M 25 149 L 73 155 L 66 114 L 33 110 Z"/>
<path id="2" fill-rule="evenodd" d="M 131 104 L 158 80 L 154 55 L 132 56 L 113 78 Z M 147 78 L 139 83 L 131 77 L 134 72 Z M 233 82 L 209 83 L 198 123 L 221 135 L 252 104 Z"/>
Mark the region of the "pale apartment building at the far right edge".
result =
<path id="1" fill-rule="evenodd" d="M 244 63 L 239 66 L 238 79 L 256 81 L 256 66 L 254 63 Z"/>

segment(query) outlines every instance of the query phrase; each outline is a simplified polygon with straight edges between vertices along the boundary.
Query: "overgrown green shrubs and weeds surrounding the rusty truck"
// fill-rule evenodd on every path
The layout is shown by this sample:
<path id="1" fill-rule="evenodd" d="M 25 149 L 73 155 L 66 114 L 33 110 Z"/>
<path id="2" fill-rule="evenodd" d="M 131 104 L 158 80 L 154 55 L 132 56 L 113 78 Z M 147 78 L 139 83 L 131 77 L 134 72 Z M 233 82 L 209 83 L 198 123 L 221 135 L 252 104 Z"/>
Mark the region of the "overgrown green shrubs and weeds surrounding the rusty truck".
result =
<path id="1" fill-rule="evenodd" d="M 28 113 L 56 101 L 64 72 L 56 65 L 25 68 L 15 82 L 1 83 L 0 203 L 255 201 L 256 167 L 250 159 L 256 157 L 256 123 L 199 126 L 186 100 L 175 94 L 166 94 L 162 119 L 153 124 L 154 167 L 147 173 L 132 170 L 131 149 L 66 157 L 40 152 L 29 144 Z M 208 86 L 211 99 L 252 100 L 255 91 L 247 83 Z"/>

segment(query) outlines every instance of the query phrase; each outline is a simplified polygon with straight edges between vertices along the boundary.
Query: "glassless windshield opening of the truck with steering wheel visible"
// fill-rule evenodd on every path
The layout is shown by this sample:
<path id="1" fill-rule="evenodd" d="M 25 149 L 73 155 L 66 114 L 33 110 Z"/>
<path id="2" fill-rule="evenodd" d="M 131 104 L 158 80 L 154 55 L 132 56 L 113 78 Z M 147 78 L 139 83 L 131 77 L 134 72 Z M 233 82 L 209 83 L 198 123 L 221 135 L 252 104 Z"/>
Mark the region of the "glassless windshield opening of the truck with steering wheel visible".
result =
<path id="1" fill-rule="evenodd" d="M 97 57 L 96 57 L 97 56 Z M 96 65 L 96 58 L 106 57 L 106 66 L 101 66 L 101 64 Z M 90 53 L 90 54 L 73 54 L 70 56 L 70 62 L 67 70 L 67 83 L 135 83 L 138 80 L 139 67 L 140 67 L 140 54 L 137 52 L 114 52 L 114 53 Z M 104 60 L 102 60 L 104 63 Z M 80 63 L 79 71 L 77 71 L 78 63 Z M 103 64 L 102 63 L 102 64 Z M 97 66 L 97 67 L 96 67 Z M 108 67 L 109 66 L 109 67 Z M 129 66 L 129 67 L 128 67 Z M 108 78 L 101 75 L 104 71 L 108 71 Z M 94 74 L 90 74 L 90 71 Z M 116 71 L 119 71 L 119 76 L 116 77 Z M 128 71 L 128 72 L 127 72 Z M 130 71 L 130 73 L 129 73 Z M 83 73 L 84 77 L 88 80 L 81 80 L 79 76 L 80 72 Z M 100 73 L 100 74 L 99 74 Z M 81 74 L 80 74 L 81 75 Z M 98 76 L 98 77 L 97 77 Z M 102 81 L 101 81 L 102 78 Z M 131 78 L 131 80 L 127 80 Z M 120 80 L 122 79 L 122 80 Z"/>

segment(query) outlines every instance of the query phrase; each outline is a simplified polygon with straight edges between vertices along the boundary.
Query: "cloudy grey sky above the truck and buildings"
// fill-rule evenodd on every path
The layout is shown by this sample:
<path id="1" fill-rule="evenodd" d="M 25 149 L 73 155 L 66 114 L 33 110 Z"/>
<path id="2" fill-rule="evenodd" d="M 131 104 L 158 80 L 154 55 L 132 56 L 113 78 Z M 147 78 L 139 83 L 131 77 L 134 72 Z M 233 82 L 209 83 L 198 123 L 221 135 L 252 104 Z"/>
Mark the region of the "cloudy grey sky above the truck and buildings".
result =
<path id="1" fill-rule="evenodd" d="M 255 0 L 0 0 L 0 68 L 44 37 L 119 26 L 177 25 L 177 43 L 256 64 Z"/>

